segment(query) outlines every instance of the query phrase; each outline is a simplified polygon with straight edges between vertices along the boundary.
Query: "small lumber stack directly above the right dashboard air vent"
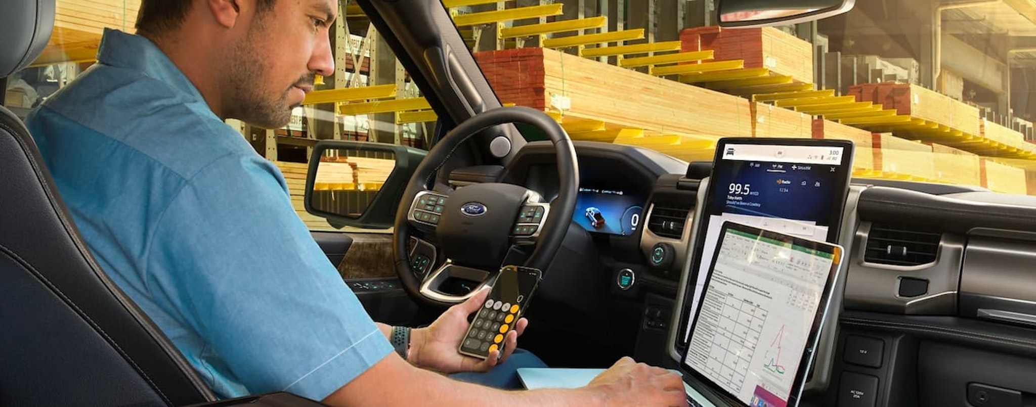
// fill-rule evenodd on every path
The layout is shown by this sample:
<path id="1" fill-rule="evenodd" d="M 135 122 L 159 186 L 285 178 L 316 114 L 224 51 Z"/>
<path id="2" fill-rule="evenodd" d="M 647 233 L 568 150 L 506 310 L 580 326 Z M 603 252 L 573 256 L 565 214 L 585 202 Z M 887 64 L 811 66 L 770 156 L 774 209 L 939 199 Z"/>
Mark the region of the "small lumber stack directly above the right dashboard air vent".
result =
<path id="1" fill-rule="evenodd" d="M 888 133 L 875 133 L 871 139 L 874 153 L 874 170 L 920 178 L 936 178 L 931 146 L 916 141 L 894 137 Z"/>

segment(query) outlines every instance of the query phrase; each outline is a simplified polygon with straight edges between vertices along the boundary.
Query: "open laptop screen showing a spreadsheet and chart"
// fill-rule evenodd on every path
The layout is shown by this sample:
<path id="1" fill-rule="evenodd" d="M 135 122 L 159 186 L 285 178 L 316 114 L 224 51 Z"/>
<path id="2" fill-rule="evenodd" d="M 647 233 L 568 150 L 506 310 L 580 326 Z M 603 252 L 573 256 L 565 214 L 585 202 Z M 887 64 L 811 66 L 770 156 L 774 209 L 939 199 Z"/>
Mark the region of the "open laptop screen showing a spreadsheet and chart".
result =
<path id="1" fill-rule="evenodd" d="M 746 405 L 795 405 L 840 257 L 834 244 L 724 222 L 685 368 Z"/>

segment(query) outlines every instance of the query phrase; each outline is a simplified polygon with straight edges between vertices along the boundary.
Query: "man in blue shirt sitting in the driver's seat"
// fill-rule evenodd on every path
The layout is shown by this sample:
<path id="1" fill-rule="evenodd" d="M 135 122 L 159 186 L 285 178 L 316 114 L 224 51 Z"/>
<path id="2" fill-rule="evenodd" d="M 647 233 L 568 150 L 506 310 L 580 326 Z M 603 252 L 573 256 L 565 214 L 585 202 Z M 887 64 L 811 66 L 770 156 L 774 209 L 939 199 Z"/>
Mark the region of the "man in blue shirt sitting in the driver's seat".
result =
<path id="1" fill-rule="evenodd" d="M 409 364 L 393 352 L 391 327 L 343 284 L 280 172 L 224 123 L 287 123 L 314 76 L 334 74 L 337 9 L 335 0 L 144 0 L 140 35 L 106 31 L 98 63 L 28 119 L 102 267 L 222 397 L 682 404 L 679 377 L 628 358 L 577 390 L 503 393 L 433 373 L 498 362 L 456 350 L 486 291 L 414 329 Z"/>

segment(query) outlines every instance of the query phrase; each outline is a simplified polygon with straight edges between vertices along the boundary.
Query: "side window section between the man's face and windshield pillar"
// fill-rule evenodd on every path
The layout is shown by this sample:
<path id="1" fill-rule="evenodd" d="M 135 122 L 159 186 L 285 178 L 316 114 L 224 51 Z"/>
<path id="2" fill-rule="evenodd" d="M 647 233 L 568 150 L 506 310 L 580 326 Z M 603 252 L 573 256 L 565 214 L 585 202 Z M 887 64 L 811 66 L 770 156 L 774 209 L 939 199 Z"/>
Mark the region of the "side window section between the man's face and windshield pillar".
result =
<path id="1" fill-rule="evenodd" d="M 366 168 L 367 157 L 313 157 L 312 147 L 317 141 L 367 141 L 428 149 L 437 119 L 366 16 L 350 3 L 342 2 L 341 6 L 340 18 L 330 28 L 335 75 L 317 79 L 315 90 L 303 106 L 295 108 L 291 122 L 277 129 L 229 122 L 241 130 L 256 151 L 281 169 L 295 211 L 310 230 L 391 233 L 392 229 L 335 229 L 305 209 L 306 174 L 311 159 L 359 163 L 358 167 L 351 163 L 354 168 L 349 174 L 354 176 L 349 179 L 317 179 L 315 190 L 332 196 L 347 190 L 377 191 L 391 172 L 378 166 Z"/>

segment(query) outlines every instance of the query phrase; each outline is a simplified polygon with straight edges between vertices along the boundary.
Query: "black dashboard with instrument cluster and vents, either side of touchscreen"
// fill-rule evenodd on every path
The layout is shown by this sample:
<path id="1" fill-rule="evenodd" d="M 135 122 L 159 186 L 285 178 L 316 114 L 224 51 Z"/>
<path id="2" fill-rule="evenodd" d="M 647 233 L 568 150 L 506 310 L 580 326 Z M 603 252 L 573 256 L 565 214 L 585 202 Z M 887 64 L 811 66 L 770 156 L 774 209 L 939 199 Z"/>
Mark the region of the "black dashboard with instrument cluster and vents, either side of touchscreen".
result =
<path id="1" fill-rule="evenodd" d="M 553 149 L 539 144 L 523 148 L 507 173 L 555 196 Z M 594 236 L 604 269 L 583 278 L 608 279 L 615 303 L 634 307 L 613 317 L 629 315 L 634 358 L 675 367 L 673 310 L 688 295 L 682 287 L 691 273 L 689 254 L 703 239 L 695 225 L 709 205 L 709 172 L 693 173 L 694 166 L 650 150 L 575 144 L 581 191 L 573 221 Z M 767 186 L 826 185 L 810 178 L 821 173 L 786 186 L 749 173 L 716 182 L 725 195 L 745 197 Z M 600 211 L 602 223 L 594 225 L 589 208 Z M 846 262 L 802 405 L 1021 406 L 988 402 L 1036 400 L 1036 382 L 1019 379 L 1036 377 L 1036 198 L 854 178 L 843 209 L 833 238 L 846 249 Z M 670 258 L 656 264 L 659 248 Z M 844 395 L 862 404 L 845 402 Z"/>

